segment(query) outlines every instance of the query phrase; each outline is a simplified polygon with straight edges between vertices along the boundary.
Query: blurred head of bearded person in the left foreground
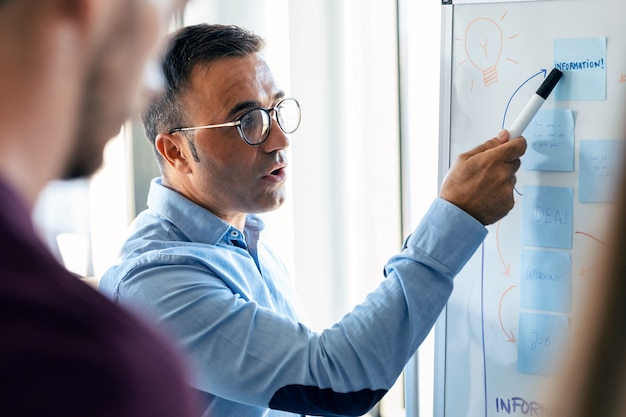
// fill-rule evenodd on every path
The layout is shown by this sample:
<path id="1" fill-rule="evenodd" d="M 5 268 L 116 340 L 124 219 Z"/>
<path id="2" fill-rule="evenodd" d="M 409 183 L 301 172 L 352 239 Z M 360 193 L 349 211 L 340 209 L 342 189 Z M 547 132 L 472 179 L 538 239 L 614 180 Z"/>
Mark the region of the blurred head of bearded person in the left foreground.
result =
<path id="1" fill-rule="evenodd" d="M 26 204 L 100 166 L 174 3 L 0 0 L 0 179 Z"/>

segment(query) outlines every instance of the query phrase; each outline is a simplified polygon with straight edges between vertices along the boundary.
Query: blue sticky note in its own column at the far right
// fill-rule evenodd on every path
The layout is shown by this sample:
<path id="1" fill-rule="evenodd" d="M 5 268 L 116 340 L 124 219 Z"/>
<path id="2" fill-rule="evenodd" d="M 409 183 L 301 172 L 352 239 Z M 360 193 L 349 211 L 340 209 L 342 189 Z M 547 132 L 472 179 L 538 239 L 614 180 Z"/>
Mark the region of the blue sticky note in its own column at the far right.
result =
<path id="1" fill-rule="evenodd" d="M 578 200 L 581 203 L 613 200 L 616 182 L 619 180 L 623 146 L 620 140 L 580 141 Z"/>

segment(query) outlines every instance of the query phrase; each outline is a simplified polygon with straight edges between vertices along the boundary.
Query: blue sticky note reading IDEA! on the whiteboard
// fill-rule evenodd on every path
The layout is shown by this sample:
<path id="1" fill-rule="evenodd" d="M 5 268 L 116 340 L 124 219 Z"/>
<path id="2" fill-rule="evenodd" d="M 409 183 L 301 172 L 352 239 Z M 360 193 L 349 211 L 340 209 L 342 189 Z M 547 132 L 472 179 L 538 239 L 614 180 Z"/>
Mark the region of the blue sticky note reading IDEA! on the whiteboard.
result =
<path id="1" fill-rule="evenodd" d="M 526 185 L 522 195 L 522 244 L 571 249 L 573 189 Z"/>

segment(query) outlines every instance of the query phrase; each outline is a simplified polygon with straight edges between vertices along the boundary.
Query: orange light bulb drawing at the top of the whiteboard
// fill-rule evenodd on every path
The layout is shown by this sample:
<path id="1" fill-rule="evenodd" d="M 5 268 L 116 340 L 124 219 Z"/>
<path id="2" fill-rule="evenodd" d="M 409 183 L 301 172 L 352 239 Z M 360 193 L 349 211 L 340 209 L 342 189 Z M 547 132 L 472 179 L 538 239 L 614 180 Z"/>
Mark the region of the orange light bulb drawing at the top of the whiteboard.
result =
<path id="1" fill-rule="evenodd" d="M 485 17 L 473 20 L 465 31 L 465 52 L 472 65 L 482 71 L 485 87 L 498 82 L 502 38 L 500 26 Z"/>

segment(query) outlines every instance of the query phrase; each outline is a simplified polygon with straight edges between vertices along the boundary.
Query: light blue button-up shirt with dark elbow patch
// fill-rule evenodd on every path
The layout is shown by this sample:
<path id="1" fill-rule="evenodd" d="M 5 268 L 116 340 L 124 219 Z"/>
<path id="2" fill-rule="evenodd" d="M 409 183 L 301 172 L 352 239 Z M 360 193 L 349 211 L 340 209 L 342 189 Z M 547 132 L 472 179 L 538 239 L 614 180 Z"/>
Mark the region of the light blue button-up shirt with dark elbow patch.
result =
<path id="1" fill-rule="evenodd" d="M 316 333 L 299 319 L 283 263 L 259 240 L 258 217 L 248 215 L 242 233 L 159 179 L 148 207 L 100 289 L 172 333 L 205 415 L 218 417 L 365 413 L 427 336 L 487 233 L 436 199 L 378 289 Z"/>

